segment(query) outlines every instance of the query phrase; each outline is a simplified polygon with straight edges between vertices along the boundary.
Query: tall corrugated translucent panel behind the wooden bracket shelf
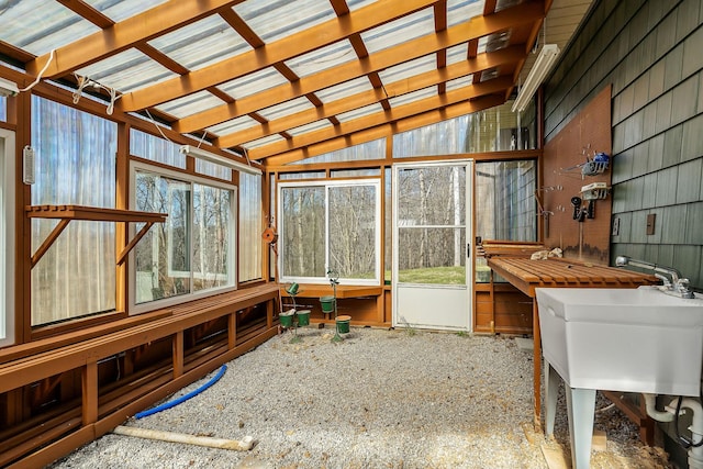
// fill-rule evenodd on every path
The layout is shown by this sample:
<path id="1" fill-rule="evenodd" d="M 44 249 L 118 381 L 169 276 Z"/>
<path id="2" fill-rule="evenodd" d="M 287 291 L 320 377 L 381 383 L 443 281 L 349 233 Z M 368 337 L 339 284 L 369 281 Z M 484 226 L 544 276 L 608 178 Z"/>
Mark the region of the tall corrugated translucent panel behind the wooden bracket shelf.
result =
<path id="1" fill-rule="evenodd" d="M 118 125 L 32 97 L 32 204 L 115 206 Z M 32 252 L 56 220 L 32 220 Z M 72 221 L 32 269 L 32 325 L 115 308 L 115 224 Z"/>

